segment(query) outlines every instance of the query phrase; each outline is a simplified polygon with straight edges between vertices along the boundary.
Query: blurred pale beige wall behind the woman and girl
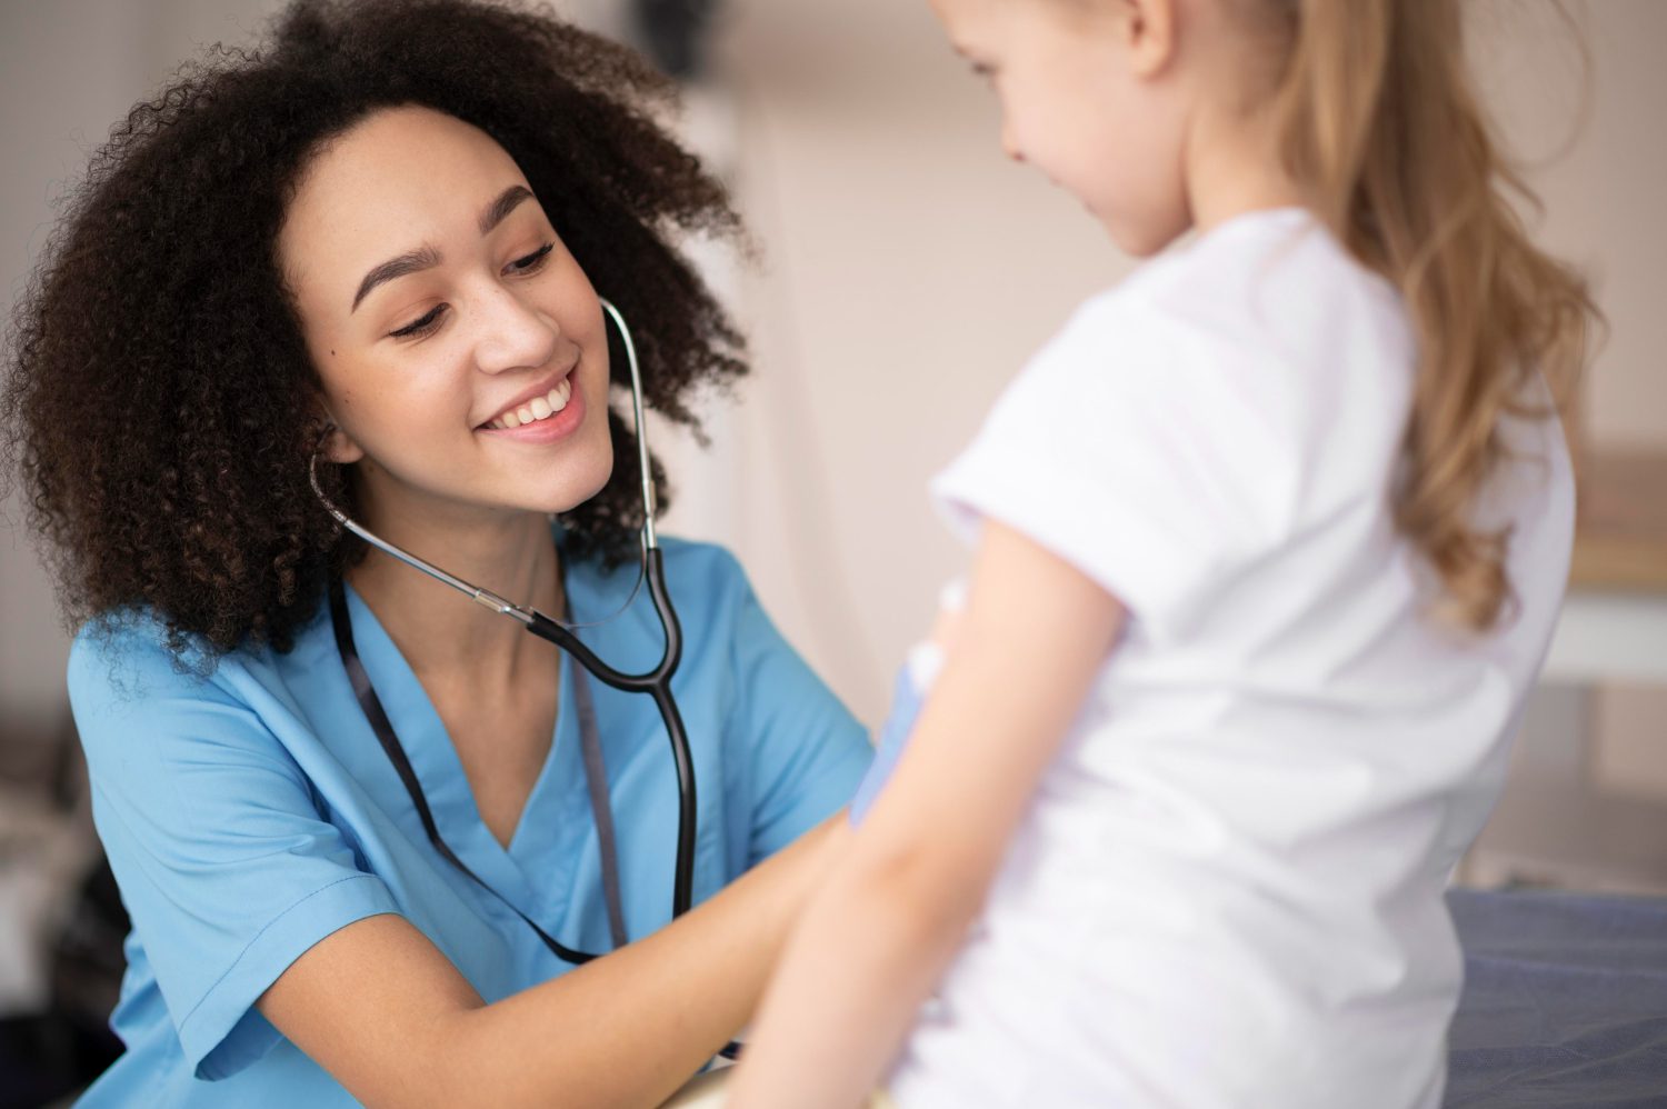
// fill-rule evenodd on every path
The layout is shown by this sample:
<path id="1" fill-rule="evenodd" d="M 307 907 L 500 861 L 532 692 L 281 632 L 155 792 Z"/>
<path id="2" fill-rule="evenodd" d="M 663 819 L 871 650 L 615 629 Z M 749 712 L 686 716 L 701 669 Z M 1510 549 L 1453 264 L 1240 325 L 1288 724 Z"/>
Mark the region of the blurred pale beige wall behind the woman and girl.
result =
<path id="1" fill-rule="evenodd" d="M 0 5 L 8 290 L 47 198 L 108 123 L 188 42 L 237 38 L 273 7 Z M 583 5 L 590 18 L 607 7 Z M 1567 145 L 1580 102 L 1545 12 L 1489 0 L 1477 37 L 1500 117 L 1542 162 Z M 1544 237 L 1592 267 L 1610 315 L 1589 390 L 1594 437 L 1667 449 L 1667 3 L 1585 12 L 1592 113 L 1534 173 Z M 732 172 L 765 248 L 757 272 L 717 268 L 753 329 L 757 379 L 740 405 L 713 405 L 712 452 L 672 447 L 685 497 L 668 525 L 732 544 L 788 637 L 872 722 L 962 559 L 927 507 L 927 477 L 1027 352 L 1130 263 L 1069 197 L 1002 162 L 994 100 L 924 0 L 730 0 L 722 60 L 692 127 Z M 45 715 L 62 699 L 62 637 L 27 544 L 0 527 L 0 710 Z"/>

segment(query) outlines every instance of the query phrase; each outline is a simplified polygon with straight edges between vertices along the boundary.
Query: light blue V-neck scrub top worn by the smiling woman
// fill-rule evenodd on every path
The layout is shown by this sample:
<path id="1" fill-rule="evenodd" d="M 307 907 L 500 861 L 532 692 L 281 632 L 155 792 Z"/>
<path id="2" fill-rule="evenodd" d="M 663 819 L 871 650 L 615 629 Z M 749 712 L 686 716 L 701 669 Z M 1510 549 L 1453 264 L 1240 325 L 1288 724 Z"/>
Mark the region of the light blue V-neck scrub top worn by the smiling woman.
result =
<path id="1" fill-rule="evenodd" d="M 770 624 L 735 559 L 663 540 L 685 635 L 672 682 L 698 785 L 695 901 L 847 804 L 870 759 L 862 725 Z M 635 565 L 567 567 L 577 622 L 630 592 Z M 457 856 L 555 939 L 608 949 L 572 664 L 555 740 L 505 851 L 405 659 L 348 589 L 365 670 Z M 462 599 L 458 604 L 465 604 Z M 647 590 L 580 639 L 623 670 L 662 649 Z M 75 640 L 70 700 L 93 819 L 133 919 L 112 1027 L 127 1052 L 87 1106 L 355 1104 L 253 1002 L 303 951 L 378 912 L 417 926 L 488 1002 L 563 974 L 523 921 L 428 844 L 342 669 L 328 604 L 295 649 L 238 650 L 182 674 L 150 615 Z M 670 919 L 677 779 L 653 702 L 590 682 L 618 839 L 627 931 Z"/>

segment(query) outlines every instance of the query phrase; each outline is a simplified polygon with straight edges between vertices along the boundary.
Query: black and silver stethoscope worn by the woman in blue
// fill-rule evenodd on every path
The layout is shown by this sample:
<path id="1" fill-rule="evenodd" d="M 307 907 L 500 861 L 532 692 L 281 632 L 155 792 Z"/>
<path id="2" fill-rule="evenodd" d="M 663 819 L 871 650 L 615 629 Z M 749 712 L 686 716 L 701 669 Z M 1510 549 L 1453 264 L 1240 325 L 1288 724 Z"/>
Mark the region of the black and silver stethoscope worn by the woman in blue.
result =
<path id="1" fill-rule="evenodd" d="M 637 347 L 632 342 L 630 329 L 625 327 L 625 319 L 620 315 L 618 309 L 615 309 L 607 300 L 602 299 L 598 300 L 602 304 L 602 310 L 607 315 L 607 319 L 612 320 L 613 327 L 618 329 L 620 339 L 623 340 L 625 345 L 625 359 L 627 362 L 630 362 L 632 412 L 637 422 L 637 460 L 642 469 L 642 575 L 637 579 L 637 585 L 632 589 L 630 597 L 625 599 L 625 604 L 620 605 L 618 612 L 595 624 L 603 624 L 625 612 L 625 609 L 628 609 L 632 602 L 637 599 L 637 592 L 642 589 L 643 580 L 647 580 L 648 595 L 653 599 L 653 610 L 660 617 L 660 627 L 665 632 L 665 650 L 660 654 L 660 662 L 655 667 L 643 670 L 642 674 L 625 674 L 622 670 L 615 670 L 602 659 L 598 659 L 595 652 L 585 647 L 585 644 L 582 644 L 578 637 L 573 634 L 575 627 L 595 627 L 595 624 L 563 624 L 560 620 L 553 620 L 545 614 L 538 612 L 537 609 L 527 609 L 523 605 L 513 604 L 510 600 L 505 600 L 503 597 L 498 597 L 488 589 L 482 589 L 472 582 L 465 582 L 463 579 L 453 574 L 447 574 L 432 562 L 425 562 L 423 559 L 418 559 L 408 550 L 395 547 L 385 539 L 372 534 L 368 529 L 365 529 L 357 520 L 342 512 L 342 509 L 338 509 L 323 492 L 323 487 L 318 484 L 317 449 L 313 450 L 312 459 L 308 460 L 308 479 L 312 480 L 313 492 L 318 495 L 318 500 L 323 504 L 323 507 L 328 509 L 330 515 L 333 515 L 342 527 L 358 535 L 377 550 L 382 550 L 398 559 L 400 562 L 422 570 L 428 577 L 433 577 L 435 580 L 445 582 L 452 589 L 470 597 L 475 604 L 480 604 L 500 615 L 520 620 L 528 632 L 565 650 L 572 659 L 575 659 L 585 670 L 595 675 L 600 682 L 628 694 L 648 694 L 650 697 L 653 697 L 653 704 L 660 710 L 660 719 L 665 722 L 665 732 L 672 740 L 672 762 L 677 767 L 677 794 L 678 794 L 677 869 L 672 882 L 672 916 L 677 917 L 688 911 L 693 891 L 693 874 L 695 874 L 695 765 L 693 765 L 693 757 L 690 755 L 688 750 L 688 735 L 683 730 L 683 719 L 677 710 L 677 700 L 672 697 L 672 675 L 677 674 L 677 664 L 682 659 L 683 634 L 677 624 L 677 610 L 672 607 L 672 595 L 665 589 L 665 567 L 662 564 L 660 542 L 653 532 L 653 512 L 655 512 L 653 477 L 652 470 L 648 469 L 648 434 L 642 414 L 642 372 L 637 367 Z M 485 881 L 477 877 L 475 872 L 470 871 L 463 864 L 463 861 L 458 859 L 457 854 L 445 844 L 445 841 L 440 837 L 438 825 L 433 820 L 433 814 L 428 809 L 428 800 L 422 792 L 422 785 L 417 782 L 417 774 L 410 765 L 410 759 L 407 757 L 405 749 L 400 744 L 398 737 L 393 734 L 393 725 L 388 722 L 387 712 L 383 710 L 382 702 L 377 699 L 375 689 L 372 689 L 370 685 L 370 677 L 368 674 L 365 674 L 363 664 L 360 664 L 358 660 L 358 652 L 353 647 L 352 624 L 347 620 L 347 604 L 343 599 L 340 582 L 332 584 L 332 617 L 335 620 L 337 647 L 340 649 L 342 662 L 347 669 L 348 680 L 353 685 L 353 694 L 357 695 L 360 709 L 363 709 L 372 730 L 382 742 L 383 750 L 393 762 L 393 767 L 398 772 L 402 784 L 410 794 L 412 804 L 417 809 L 418 819 L 423 824 L 423 830 L 427 832 L 428 841 L 448 862 L 452 862 L 452 866 L 460 869 L 477 884 L 480 884 L 488 892 L 495 894 L 500 901 L 508 904 L 517 916 L 520 916 L 528 926 L 532 926 L 532 929 L 543 941 L 545 947 L 555 952 L 560 959 L 575 964 L 593 959 L 595 957 L 593 954 L 567 947 L 565 944 L 548 936 L 542 927 L 538 927 L 535 921 L 532 921 L 532 917 L 528 917 L 517 906 L 503 899 L 502 894 L 497 894 L 497 891 L 493 891 Z M 580 675 L 575 672 L 575 677 Z M 588 694 L 583 692 L 582 680 L 575 682 L 575 694 L 577 694 L 575 700 L 578 702 L 575 707 L 580 712 L 580 719 L 588 720 L 592 714 L 588 705 Z M 623 924 L 618 919 L 618 909 L 617 909 L 617 864 L 612 862 L 612 817 L 608 815 L 607 809 L 607 784 L 605 780 L 600 782 L 600 794 L 598 794 L 600 770 L 598 765 L 593 764 L 590 757 L 592 749 L 597 749 L 593 735 L 590 735 L 590 732 L 593 732 L 593 727 L 585 730 L 587 730 L 585 770 L 587 777 L 590 779 L 592 804 L 597 815 L 598 834 L 602 837 L 603 872 L 612 874 L 612 877 L 607 879 L 610 882 L 608 889 L 610 894 L 608 909 L 612 917 L 610 924 L 613 929 L 615 944 L 620 944 L 623 942 Z"/>

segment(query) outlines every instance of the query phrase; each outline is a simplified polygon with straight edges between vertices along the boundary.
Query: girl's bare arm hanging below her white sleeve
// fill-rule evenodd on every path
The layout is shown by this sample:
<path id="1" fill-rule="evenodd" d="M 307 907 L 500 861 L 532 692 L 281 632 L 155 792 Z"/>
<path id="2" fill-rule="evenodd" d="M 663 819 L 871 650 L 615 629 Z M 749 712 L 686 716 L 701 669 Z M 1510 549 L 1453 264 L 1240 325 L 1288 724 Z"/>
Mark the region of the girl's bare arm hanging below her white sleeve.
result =
<path id="1" fill-rule="evenodd" d="M 1092 579 L 985 524 L 944 672 L 788 939 L 732 1109 L 864 1102 L 984 904 L 1122 622 Z"/>

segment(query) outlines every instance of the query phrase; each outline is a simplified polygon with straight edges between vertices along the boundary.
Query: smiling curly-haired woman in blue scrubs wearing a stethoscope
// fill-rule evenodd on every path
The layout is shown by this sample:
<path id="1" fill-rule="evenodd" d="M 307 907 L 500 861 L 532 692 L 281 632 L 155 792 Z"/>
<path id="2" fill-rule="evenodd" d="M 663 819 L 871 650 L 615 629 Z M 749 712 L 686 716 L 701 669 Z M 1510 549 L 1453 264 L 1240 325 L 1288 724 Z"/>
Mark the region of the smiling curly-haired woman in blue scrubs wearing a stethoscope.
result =
<path id="1" fill-rule="evenodd" d="M 577 624 L 620 609 L 640 509 L 597 289 L 663 414 L 743 370 L 672 245 L 733 215 L 657 90 L 543 17 L 302 3 L 95 158 L 7 397 L 90 617 L 70 694 L 133 919 L 127 1054 L 87 1104 L 653 1106 L 748 1017 L 869 745 L 735 560 L 663 544 L 700 784 L 673 922 L 653 702 L 307 484 L 317 452 L 380 535 Z M 580 635 L 627 670 L 662 649 L 642 599 Z"/>

